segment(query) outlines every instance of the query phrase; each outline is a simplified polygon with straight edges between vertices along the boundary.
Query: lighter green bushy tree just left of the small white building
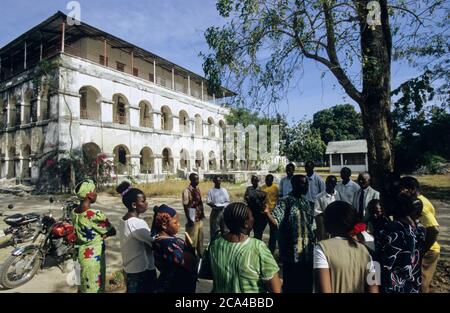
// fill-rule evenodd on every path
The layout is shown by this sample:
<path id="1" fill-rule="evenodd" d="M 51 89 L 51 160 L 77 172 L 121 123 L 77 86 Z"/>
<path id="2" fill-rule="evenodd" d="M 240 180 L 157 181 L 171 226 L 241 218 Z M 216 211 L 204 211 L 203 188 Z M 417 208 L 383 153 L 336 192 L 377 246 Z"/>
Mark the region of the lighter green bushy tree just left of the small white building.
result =
<path id="1" fill-rule="evenodd" d="M 285 155 L 290 161 L 322 162 L 326 145 L 320 138 L 319 130 L 311 127 L 310 121 L 300 121 L 286 131 Z"/>

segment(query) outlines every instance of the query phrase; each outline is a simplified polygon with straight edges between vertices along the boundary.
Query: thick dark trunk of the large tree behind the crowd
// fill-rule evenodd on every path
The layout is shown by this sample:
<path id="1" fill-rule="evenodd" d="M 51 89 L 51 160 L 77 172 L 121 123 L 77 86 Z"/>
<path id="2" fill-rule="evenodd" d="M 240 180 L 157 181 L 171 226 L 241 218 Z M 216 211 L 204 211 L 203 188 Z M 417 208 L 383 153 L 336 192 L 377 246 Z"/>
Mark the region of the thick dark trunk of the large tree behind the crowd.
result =
<path id="1" fill-rule="evenodd" d="M 392 36 L 387 1 L 380 0 L 381 25 L 367 24 L 369 1 L 358 1 L 363 55 L 363 91 L 360 104 L 364 135 L 368 145 L 372 184 L 380 190 L 382 177 L 394 170 L 391 117 L 391 52 Z"/>

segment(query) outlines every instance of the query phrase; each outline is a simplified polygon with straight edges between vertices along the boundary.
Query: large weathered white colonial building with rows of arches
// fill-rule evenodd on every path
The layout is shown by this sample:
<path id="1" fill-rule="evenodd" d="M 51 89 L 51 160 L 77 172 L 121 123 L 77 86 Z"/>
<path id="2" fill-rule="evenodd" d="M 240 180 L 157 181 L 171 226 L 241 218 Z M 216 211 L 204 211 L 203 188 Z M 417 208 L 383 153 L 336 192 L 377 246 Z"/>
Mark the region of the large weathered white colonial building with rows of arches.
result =
<path id="1" fill-rule="evenodd" d="M 0 49 L 0 180 L 36 182 L 46 155 L 105 154 L 115 174 L 225 169 L 207 81 L 61 12 Z"/>

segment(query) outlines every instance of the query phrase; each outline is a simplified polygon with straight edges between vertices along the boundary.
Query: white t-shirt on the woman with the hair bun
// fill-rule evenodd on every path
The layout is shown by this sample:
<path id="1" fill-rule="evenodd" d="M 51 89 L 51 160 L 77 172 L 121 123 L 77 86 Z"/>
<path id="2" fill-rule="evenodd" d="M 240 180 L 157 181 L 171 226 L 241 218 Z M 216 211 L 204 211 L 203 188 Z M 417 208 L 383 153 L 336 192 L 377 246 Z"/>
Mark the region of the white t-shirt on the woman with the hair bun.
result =
<path id="1" fill-rule="evenodd" d="M 141 273 L 155 269 L 153 257 L 150 227 L 147 223 L 136 217 L 124 221 L 120 219 L 119 224 L 120 250 L 125 272 L 128 274 Z"/>

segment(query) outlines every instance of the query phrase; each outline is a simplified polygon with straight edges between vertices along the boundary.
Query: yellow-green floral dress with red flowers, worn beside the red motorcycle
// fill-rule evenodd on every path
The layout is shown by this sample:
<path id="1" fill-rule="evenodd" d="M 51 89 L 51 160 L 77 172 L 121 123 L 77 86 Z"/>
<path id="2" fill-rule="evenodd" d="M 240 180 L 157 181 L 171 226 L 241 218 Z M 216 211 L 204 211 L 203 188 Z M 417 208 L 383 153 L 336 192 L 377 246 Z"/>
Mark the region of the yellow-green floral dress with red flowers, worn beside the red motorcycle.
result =
<path id="1" fill-rule="evenodd" d="M 78 262 L 81 267 L 81 293 L 105 291 L 106 260 L 103 236 L 112 229 L 102 211 L 89 209 L 83 213 L 72 212 L 77 234 Z"/>

